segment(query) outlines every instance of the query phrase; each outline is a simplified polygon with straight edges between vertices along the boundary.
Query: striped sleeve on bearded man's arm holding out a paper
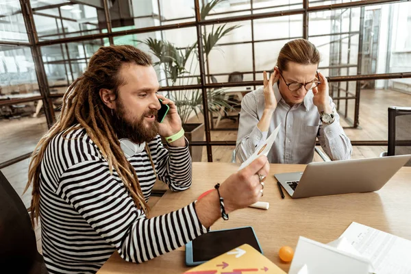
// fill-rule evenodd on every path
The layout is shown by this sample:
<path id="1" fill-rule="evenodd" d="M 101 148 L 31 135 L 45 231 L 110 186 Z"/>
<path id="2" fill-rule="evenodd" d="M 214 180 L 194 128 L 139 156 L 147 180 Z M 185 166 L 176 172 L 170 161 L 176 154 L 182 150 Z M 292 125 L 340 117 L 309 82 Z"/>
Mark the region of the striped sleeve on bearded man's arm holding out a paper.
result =
<path id="1" fill-rule="evenodd" d="M 150 260 L 207 232 L 198 219 L 194 202 L 147 219 L 103 160 L 71 166 L 60 177 L 56 193 L 129 262 Z M 98 253 L 99 247 L 90 252 Z"/>

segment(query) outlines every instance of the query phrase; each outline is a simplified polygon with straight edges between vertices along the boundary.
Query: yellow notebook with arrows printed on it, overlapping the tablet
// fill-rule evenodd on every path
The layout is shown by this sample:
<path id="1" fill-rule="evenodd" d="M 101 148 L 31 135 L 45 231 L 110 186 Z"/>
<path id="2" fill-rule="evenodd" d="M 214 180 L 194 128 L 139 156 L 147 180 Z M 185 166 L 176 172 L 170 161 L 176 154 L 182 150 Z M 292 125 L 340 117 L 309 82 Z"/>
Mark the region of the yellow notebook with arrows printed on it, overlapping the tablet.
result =
<path id="1" fill-rule="evenodd" d="M 285 273 L 251 245 L 241 245 L 184 274 L 283 274 Z"/>

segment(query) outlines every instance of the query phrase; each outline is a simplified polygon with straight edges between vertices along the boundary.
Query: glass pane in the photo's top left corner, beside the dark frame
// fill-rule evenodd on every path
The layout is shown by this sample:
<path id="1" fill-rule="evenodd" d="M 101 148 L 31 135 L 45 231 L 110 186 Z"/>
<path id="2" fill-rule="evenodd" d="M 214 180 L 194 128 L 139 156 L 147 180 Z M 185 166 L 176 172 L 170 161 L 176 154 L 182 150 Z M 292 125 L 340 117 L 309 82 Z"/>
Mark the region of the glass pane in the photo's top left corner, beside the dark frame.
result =
<path id="1" fill-rule="evenodd" d="M 0 40 L 29 42 L 19 1 L 0 1 Z"/>

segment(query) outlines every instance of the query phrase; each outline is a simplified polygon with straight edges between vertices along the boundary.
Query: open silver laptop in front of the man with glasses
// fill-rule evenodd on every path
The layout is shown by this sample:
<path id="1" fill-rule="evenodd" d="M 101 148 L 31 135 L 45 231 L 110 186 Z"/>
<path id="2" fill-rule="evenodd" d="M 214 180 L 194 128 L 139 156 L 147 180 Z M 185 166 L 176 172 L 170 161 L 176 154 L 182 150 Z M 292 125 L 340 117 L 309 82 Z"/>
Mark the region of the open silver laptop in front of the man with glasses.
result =
<path id="1" fill-rule="evenodd" d="M 312 162 L 304 172 L 275 174 L 292 198 L 379 190 L 411 159 L 397 155 L 334 162 Z"/>

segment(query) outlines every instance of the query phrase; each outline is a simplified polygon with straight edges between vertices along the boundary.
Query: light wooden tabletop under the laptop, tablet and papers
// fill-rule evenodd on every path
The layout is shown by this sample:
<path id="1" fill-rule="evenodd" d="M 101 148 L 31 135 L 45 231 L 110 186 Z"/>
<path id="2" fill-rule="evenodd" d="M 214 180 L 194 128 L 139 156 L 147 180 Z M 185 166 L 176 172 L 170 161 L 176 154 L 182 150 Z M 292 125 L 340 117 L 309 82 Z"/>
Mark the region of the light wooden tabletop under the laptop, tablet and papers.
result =
<path id="1" fill-rule="evenodd" d="M 403 167 L 377 192 L 304 199 L 291 199 L 285 192 L 286 198 L 281 199 L 273 175 L 304 168 L 298 164 L 271 164 L 271 175 L 266 179 L 262 198 L 269 201 L 269 210 L 238 210 L 229 214 L 229 221 L 219 220 L 212 229 L 253 226 L 264 255 L 284 271 L 288 271 L 290 264 L 280 262 L 280 247 L 295 248 L 299 236 L 331 242 L 353 221 L 411 240 L 411 167 Z M 152 216 L 186 206 L 237 169 L 238 164 L 193 163 L 192 187 L 184 192 L 166 192 L 153 207 Z M 133 264 L 114 253 L 98 273 L 182 273 L 189 269 L 184 264 L 184 256 L 181 248 L 149 262 Z"/>

